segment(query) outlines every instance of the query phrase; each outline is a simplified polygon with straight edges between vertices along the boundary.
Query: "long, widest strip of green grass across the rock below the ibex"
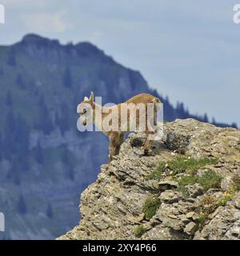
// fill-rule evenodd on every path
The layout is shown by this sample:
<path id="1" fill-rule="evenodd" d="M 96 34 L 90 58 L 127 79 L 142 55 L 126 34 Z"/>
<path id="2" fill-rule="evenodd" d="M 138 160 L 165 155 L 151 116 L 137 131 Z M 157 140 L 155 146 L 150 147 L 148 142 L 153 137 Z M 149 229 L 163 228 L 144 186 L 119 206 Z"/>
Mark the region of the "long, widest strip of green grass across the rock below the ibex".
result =
<path id="1" fill-rule="evenodd" d="M 160 180 L 164 172 L 172 176 L 186 171 L 189 171 L 190 174 L 195 174 L 200 168 L 217 163 L 218 159 L 215 158 L 201 158 L 196 160 L 194 158 L 176 157 L 168 162 L 159 162 L 156 169 L 147 178 Z"/>

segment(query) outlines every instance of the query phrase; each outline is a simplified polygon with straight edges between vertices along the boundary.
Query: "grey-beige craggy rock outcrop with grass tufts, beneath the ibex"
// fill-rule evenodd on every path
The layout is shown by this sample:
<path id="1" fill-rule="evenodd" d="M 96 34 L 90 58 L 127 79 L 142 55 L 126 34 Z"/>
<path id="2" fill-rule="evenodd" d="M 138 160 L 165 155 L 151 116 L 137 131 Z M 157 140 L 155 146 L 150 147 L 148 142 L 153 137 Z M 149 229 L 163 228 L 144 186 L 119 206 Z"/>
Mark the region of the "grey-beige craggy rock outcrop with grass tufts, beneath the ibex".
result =
<path id="1" fill-rule="evenodd" d="M 102 166 L 58 239 L 239 239 L 240 130 L 177 119 L 150 156 L 145 139 L 130 134 Z"/>

